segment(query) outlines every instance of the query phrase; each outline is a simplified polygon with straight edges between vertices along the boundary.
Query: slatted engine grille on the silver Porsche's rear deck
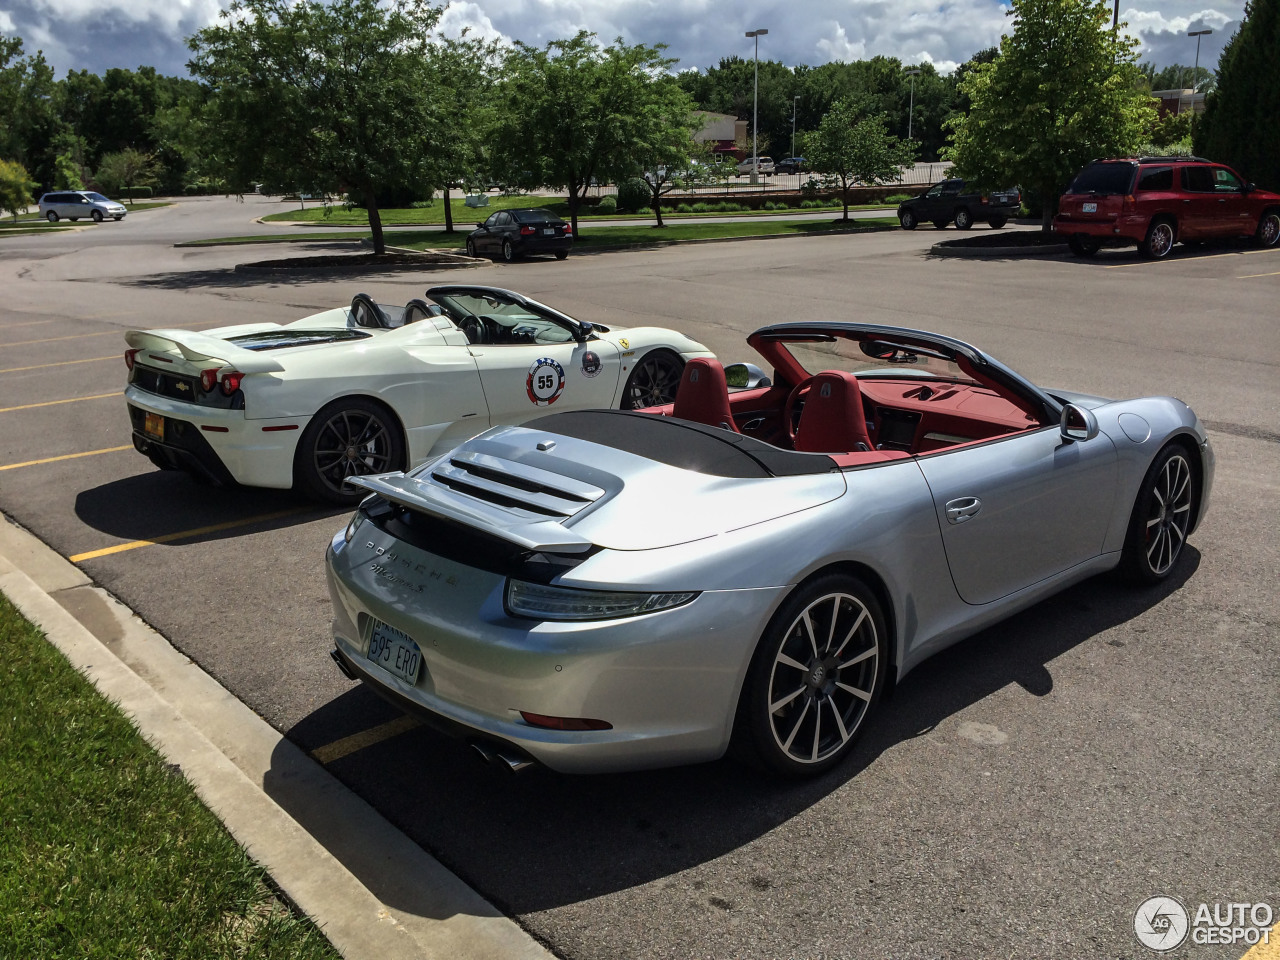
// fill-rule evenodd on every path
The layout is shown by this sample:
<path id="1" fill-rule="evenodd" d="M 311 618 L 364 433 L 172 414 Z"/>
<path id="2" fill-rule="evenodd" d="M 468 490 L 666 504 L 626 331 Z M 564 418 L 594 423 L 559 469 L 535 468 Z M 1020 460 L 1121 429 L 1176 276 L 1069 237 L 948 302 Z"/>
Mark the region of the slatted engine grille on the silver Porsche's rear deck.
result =
<path id="1" fill-rule="evenodd" d="M 604 495 L 599 486 L 483 453 L 442 461 L 431 479 L 485 503 L 557 518 L 572 517 Z"/>

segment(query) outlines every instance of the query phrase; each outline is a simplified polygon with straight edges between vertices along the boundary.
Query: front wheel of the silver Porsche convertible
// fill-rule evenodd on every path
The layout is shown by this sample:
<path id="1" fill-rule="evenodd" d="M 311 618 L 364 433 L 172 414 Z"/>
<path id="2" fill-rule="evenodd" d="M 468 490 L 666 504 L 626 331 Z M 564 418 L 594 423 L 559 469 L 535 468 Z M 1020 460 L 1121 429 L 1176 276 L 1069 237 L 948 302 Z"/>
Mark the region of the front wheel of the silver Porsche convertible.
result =
<path id="1" fill-rule="evenodd" d="M 1169 444 L 1143 477 L 1133 504 L 1120 561 L 1130 580 L 1156 584 L 1172 572 L 1187 543 L 1196 492 L 1187 449 Z"/>

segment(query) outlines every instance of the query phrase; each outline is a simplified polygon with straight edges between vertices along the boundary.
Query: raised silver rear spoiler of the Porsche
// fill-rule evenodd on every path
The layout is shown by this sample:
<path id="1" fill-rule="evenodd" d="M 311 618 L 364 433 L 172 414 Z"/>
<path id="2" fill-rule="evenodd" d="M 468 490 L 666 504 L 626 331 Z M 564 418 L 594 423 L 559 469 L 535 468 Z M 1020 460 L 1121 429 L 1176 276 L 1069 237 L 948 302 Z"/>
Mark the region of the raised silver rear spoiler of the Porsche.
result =
<path id="1" fill-rule="evenodd" d="M 536 553 L 586 553 L 595 547 L 554 520 L 527 520 L 513 511 L 462 498 L 447 486 L 419 483 L 404 474 L 348 476 L 347 483 L 402 507 L 462 524 Z"/>

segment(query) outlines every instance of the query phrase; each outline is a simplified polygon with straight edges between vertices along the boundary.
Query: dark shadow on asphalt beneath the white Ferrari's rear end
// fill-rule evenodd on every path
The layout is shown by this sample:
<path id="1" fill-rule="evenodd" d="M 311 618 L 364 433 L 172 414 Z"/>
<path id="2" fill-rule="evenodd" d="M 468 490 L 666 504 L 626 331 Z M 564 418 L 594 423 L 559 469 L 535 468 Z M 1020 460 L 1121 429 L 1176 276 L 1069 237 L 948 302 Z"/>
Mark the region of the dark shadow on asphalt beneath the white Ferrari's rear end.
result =
<path id="1" fill-rule="evenodd" d="M 291 490 L 211 486 L 174 470 L 136 474 L 76 495 L 81 522 L 123 540 L 187 532 L 174 543 L 207 543 L 349 512 Z"/>

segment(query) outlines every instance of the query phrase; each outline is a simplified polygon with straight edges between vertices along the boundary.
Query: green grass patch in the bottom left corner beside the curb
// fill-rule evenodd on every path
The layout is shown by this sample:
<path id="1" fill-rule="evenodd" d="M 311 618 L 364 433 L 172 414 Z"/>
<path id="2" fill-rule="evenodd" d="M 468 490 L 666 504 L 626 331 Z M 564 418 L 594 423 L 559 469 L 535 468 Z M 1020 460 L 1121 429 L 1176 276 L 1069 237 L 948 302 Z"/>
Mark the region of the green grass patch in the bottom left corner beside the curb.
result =
<path id="1" fill-rule="evenodd" d="M 0 956 L 335 960 L 4 596 L 0 704 Z"/>

